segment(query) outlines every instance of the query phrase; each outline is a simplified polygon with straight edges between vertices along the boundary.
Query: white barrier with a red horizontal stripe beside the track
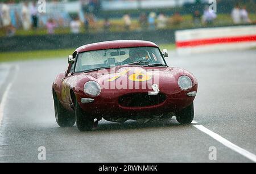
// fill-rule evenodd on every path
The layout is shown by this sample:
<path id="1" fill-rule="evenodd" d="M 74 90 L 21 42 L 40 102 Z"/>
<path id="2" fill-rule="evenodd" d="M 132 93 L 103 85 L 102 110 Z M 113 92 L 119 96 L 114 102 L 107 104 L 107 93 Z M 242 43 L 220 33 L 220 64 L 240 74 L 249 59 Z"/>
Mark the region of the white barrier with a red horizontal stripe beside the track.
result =
<path id="1" fill-rule="evenodd" d="M 256 47 L 256 26 L 188 29 L 175 39 L 179 54 L 249 49 Z"/>

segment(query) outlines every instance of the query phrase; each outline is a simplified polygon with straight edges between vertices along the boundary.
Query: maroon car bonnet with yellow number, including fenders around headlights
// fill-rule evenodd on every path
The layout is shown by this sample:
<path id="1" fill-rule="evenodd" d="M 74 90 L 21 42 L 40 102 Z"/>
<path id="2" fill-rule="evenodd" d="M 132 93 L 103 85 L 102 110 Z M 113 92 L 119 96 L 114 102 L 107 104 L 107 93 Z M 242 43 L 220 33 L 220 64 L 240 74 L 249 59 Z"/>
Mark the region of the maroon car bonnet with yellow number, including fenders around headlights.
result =
<path id="1" fill-rule="evenodd" d="M 116 66 L 111 69 L 79 73 L 68 80 L 71 88 L 77 93 L 83 93 L 84 84 L 93 80 L 100 84 L 101 94 L 110 99 L 127 93 L 152 91 L 153 84 L 158 85 L 160 92 L 178 94 L 181 90 L 177 80 L 181 75 L 191 77 L 191 90 L 196 91 L 196 78 L 187 70 L 178 67 Z"/>

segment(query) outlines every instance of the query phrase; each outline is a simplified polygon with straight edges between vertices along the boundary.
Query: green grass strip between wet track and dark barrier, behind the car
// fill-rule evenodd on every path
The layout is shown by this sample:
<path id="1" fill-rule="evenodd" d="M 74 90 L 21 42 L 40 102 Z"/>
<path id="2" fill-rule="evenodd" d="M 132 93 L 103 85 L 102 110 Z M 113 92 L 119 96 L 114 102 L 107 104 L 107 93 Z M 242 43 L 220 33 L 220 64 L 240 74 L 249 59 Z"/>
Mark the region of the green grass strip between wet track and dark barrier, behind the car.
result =
<path id="1" fill-rule="evenodd" d="M 174 50 L 174 44 L 160 45 L 160 49 Z M 26 60 L 43 60 L 51 58 L 64 58 L 72 54 L 74 49 L 59 50 L 36 50 L 30 52 L 2 52 L 0 53 L 0 62 L 26 61 Z"/>

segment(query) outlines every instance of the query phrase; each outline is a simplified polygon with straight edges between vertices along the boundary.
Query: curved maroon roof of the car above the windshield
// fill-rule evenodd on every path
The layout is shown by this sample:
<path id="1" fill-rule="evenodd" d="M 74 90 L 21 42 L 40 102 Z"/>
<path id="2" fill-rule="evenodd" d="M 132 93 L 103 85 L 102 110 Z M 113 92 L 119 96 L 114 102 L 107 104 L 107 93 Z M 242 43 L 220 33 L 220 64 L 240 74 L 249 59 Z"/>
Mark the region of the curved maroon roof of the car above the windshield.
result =
<path id="1" fill-rule="evenodd" d="M 152 43 L 150 41 L 142 41 L 142 40 L 114 40 L 114 41 L 106 41 L 101 43 L 88 44 L 84 46 L 80 46 L 76 49 L 77 53 L 88 52 L 92 50 L 102 50 L 102 49 L 115 49 L 115 48 L 129 48 L 129 47 L 156 47 L 159 48 L 158 45 Z"/>

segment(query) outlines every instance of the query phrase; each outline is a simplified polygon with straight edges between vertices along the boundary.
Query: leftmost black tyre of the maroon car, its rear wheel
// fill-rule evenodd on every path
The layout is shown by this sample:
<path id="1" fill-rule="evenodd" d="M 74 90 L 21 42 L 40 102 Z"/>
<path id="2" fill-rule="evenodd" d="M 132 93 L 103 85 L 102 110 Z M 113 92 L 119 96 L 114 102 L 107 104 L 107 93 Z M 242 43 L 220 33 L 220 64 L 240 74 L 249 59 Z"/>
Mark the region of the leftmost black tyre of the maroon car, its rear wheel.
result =
<path id="1" fill-rule="evenodd" d="M 56 92 L 53 92 L 55 119 L 60 127 L 72 127 L 76 122 L 75 114 L 68 111 L 60 103 Z"/>

